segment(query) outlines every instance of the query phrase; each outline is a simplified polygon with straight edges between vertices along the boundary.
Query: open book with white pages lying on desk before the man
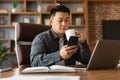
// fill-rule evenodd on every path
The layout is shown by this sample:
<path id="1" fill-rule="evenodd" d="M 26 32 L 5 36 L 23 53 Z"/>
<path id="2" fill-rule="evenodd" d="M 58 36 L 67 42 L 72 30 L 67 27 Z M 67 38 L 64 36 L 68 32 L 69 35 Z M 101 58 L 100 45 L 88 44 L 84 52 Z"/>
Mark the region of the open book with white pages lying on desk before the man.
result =
<path id="1" fill-rule="evenodd" d="M 73 67 L 52 65 L 52 66 L 40 66 L 40 67 L 27 67 L 22 73 L 36 73 L 36 72 L 76 72 Z"/>

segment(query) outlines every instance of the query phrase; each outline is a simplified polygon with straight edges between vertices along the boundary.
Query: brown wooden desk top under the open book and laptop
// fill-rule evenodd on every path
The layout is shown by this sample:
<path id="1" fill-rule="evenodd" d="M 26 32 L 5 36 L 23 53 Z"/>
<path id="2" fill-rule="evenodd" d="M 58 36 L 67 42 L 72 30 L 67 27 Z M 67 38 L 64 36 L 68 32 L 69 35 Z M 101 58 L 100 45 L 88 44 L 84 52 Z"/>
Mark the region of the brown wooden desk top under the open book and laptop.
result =
<path id="1" fill-rule="evenodd" d="M 80 71 L 76 73 L 35 73 L 35 74 L 22 74 L 18 68 L 11 71 L 0 73 L 0 78 L 7 78 L 19 75 L 61 75 L 61 76 L 80 76 L 80 80 L 120 80 L 120 68 L 112 70 L 92 70 L 92 71 Z"/>

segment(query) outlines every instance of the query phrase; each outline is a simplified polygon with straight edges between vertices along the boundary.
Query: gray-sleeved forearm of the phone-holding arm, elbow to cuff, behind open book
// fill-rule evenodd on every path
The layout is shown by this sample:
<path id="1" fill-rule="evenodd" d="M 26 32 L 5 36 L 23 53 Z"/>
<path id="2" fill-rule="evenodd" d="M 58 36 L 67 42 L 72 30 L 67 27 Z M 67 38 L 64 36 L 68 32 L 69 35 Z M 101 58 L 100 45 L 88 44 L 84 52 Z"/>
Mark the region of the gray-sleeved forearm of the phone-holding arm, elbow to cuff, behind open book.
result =
<path id="1" fill-rule="evenodd" d="M 59 51 L 50 54 L 31 55 L 31 66 L 50 66 L 60 61 Z"/>

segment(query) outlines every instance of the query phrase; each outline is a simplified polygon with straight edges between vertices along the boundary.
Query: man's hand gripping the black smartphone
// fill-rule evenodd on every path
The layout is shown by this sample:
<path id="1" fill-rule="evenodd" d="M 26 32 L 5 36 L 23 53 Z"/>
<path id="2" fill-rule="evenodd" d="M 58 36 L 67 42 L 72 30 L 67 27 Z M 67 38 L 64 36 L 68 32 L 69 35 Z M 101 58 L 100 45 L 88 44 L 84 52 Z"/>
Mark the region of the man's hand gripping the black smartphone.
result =
<path id="1" fill-rule="evenodd" d="M 61 50 L 60 50 L 60 56 L 62 59 L 68 59 L 70 58 L 73 54 L 75 54 L 77 52 L 77 46 L 73 45 L 73 46 L 62 46 Z"/>

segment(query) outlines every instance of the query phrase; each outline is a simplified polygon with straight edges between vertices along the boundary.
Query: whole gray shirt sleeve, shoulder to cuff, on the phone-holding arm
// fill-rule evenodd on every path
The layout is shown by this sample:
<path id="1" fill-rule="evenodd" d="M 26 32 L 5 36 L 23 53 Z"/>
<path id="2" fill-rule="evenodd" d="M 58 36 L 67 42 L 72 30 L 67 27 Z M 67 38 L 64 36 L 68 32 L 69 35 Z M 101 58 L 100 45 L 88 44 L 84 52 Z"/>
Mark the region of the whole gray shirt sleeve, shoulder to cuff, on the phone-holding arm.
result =
<path id="1" fill-rule="evenodd" d="M 37 36 L 32 43 L 30 62 L 31 66 L 50 66 L 60 61 L 59 51 L 48 53 L 48 41 Z"/>

